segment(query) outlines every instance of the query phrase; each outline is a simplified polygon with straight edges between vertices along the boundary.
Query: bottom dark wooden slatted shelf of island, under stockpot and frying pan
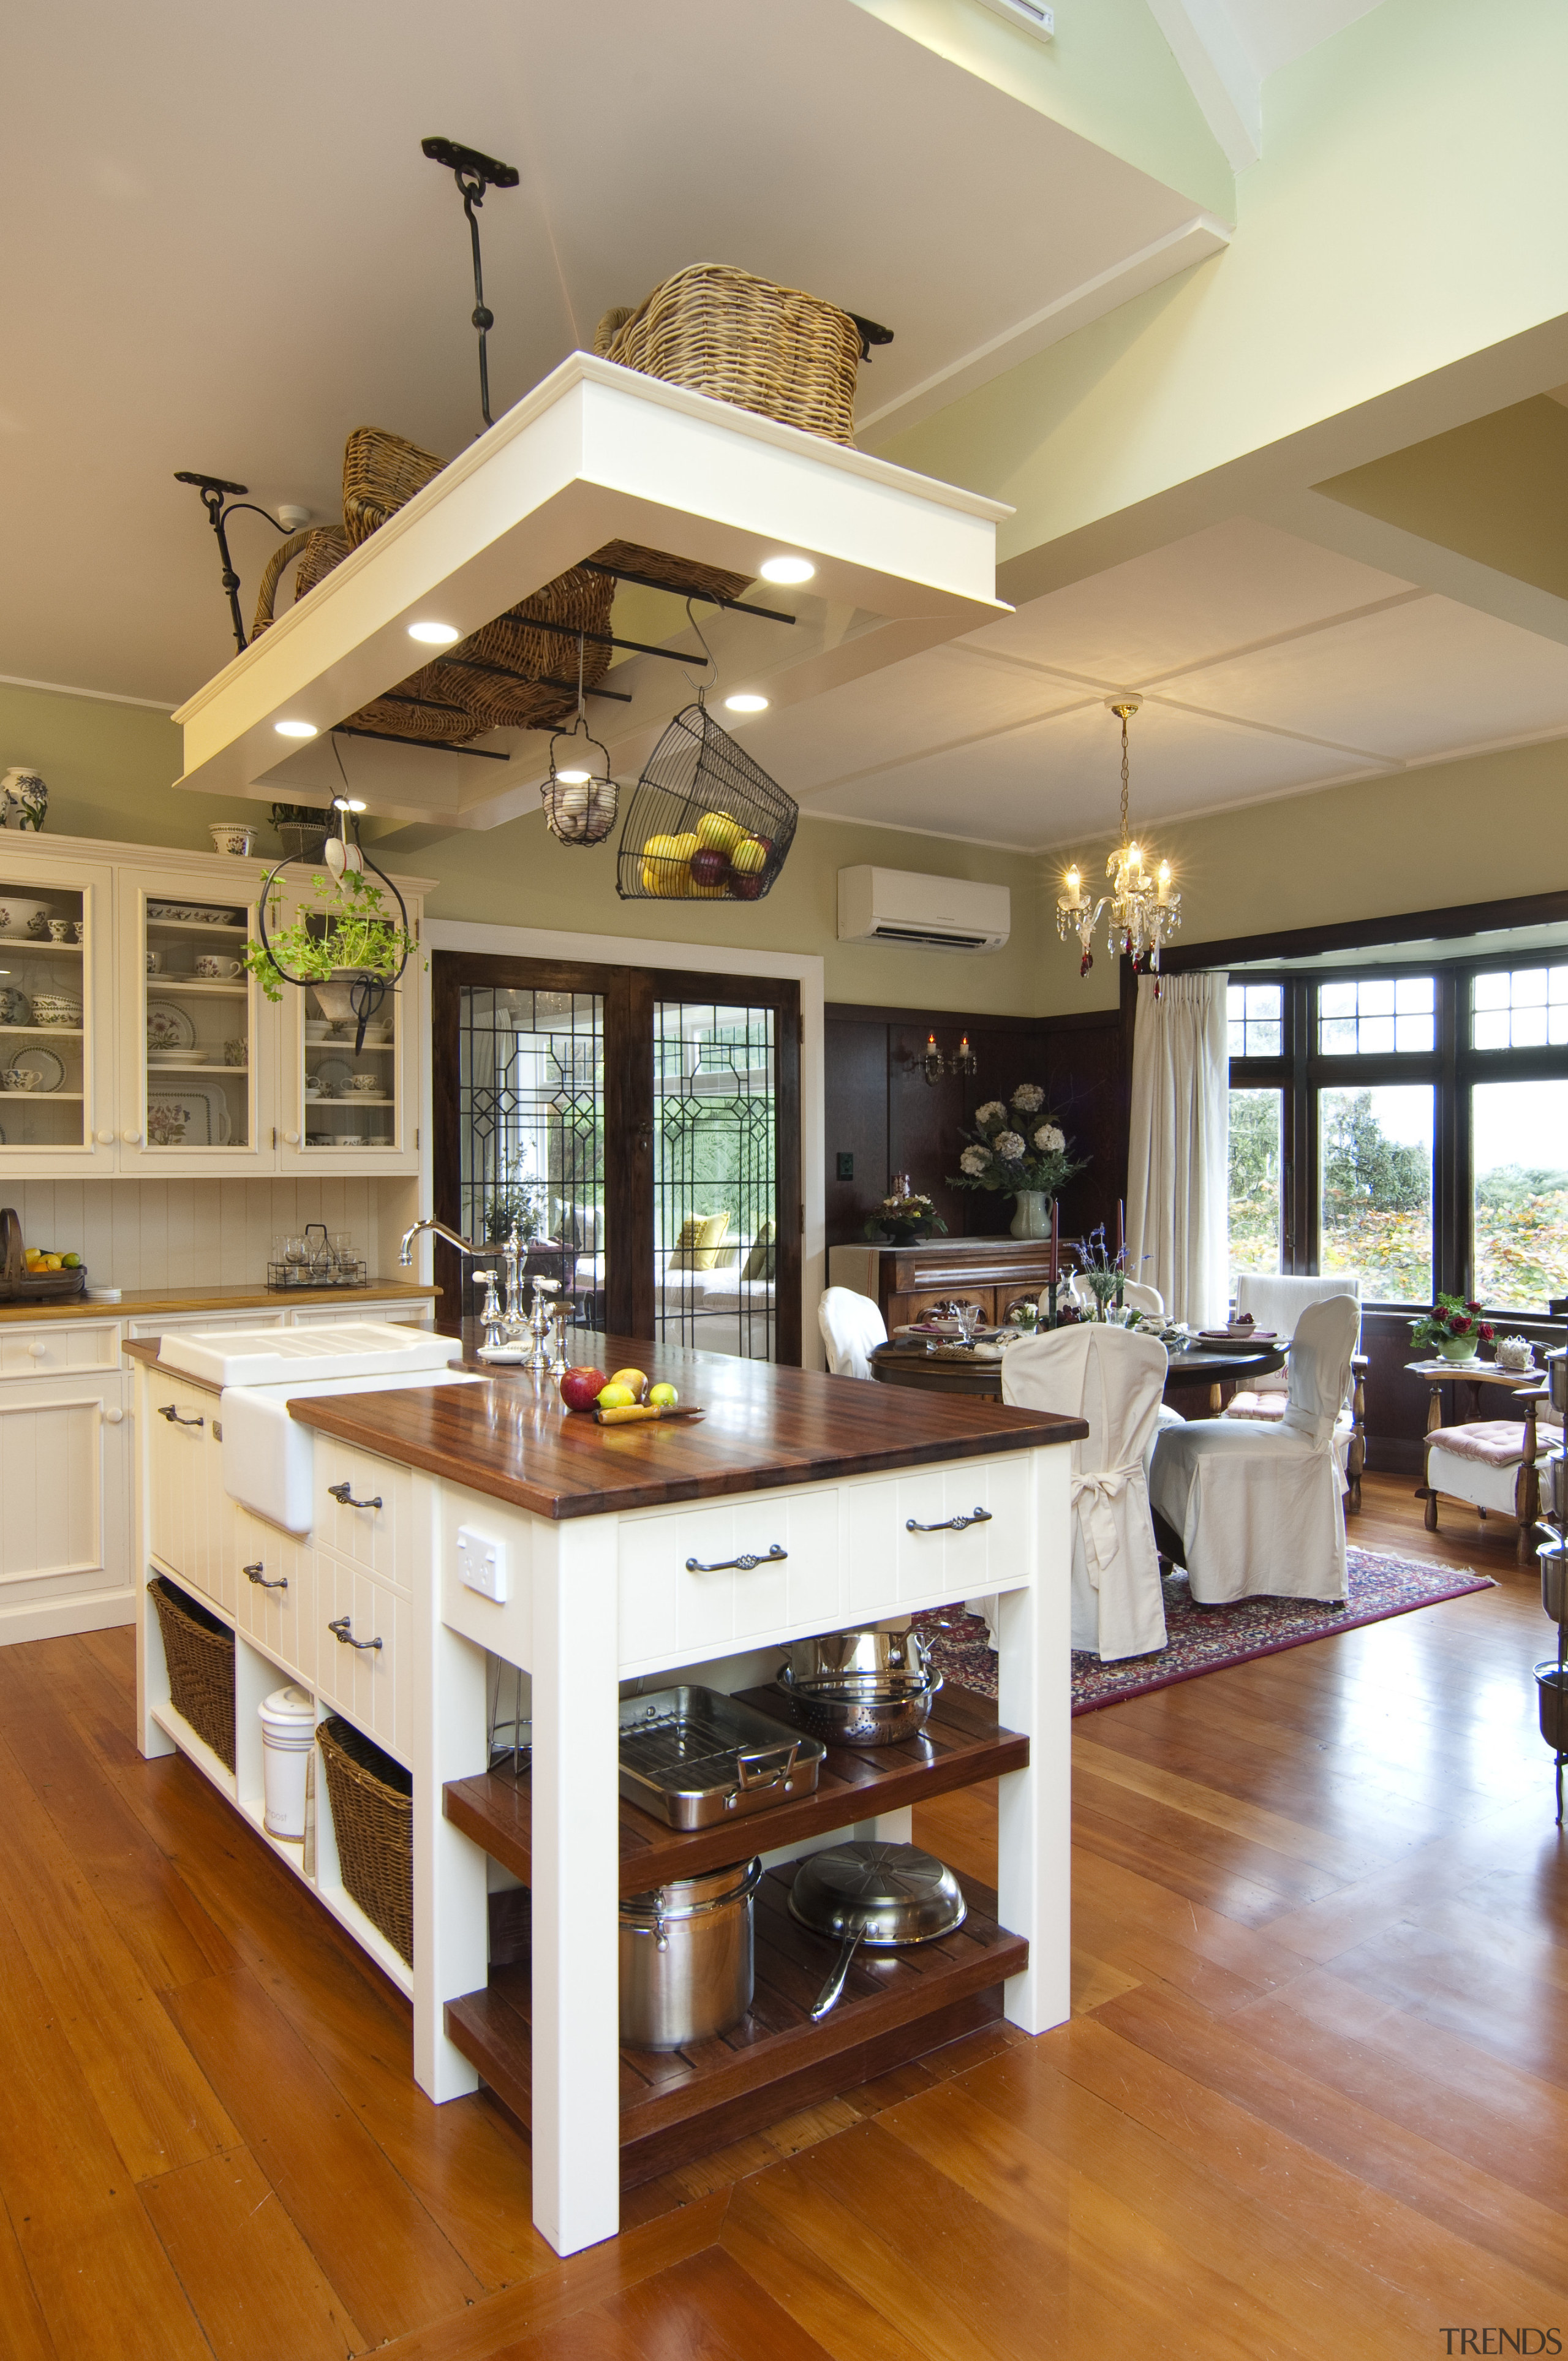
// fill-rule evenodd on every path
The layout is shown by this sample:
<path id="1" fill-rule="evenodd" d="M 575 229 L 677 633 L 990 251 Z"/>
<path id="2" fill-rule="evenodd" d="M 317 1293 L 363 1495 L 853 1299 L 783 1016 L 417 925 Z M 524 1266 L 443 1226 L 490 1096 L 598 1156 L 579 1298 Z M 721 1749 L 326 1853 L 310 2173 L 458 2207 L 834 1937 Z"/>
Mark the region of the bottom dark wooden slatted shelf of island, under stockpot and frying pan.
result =
<path id="1" fill-rule="evenodd" d="M 812 2023 L 838 1945 L 791 1919 L 796 1868 L 770 1870 L 756 1896 L 749 2014 L 690 2049 L 621 2047 L 623 2189 L 992 2023 L 1001 1986 L 1030 1964 L 1025 1938 L 999 1927 L 989 1886 L 959 1877 L 963 1927 L 933 1943 L 862 1950 L 838 2004 Z M 529 2130 L 531 2030 L 527 1960 L 491 1967 L 486 1990 L 446 2002 L 453 2045 Z"/>

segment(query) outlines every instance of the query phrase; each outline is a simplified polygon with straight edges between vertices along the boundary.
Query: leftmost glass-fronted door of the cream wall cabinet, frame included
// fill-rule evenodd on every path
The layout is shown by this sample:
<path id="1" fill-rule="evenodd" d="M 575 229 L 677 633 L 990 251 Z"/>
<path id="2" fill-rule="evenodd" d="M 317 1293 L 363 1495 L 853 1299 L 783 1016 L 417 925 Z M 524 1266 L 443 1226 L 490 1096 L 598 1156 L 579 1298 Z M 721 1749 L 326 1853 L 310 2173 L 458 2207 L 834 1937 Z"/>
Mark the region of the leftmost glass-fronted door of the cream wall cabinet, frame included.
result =
<path id="1" fill-rule="evenodd" d="M 0 1171 L 116 1162 L 111 871 L 0 829 Z"/>

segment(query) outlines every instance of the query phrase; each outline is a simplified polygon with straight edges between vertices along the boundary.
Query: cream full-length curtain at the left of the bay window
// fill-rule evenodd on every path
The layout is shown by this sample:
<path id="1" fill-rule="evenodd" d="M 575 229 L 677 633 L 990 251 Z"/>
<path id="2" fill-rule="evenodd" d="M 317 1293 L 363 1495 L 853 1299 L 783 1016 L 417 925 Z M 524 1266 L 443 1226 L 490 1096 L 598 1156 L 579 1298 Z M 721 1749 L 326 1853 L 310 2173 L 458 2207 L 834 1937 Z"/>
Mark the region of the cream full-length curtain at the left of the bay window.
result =
<path id="1" fill-rule="evenodd" d="M 1221 1327 L 1230 1301 L 1226 975 L 1138 977 L 1126 1270 L 1171 1320 Z"/>

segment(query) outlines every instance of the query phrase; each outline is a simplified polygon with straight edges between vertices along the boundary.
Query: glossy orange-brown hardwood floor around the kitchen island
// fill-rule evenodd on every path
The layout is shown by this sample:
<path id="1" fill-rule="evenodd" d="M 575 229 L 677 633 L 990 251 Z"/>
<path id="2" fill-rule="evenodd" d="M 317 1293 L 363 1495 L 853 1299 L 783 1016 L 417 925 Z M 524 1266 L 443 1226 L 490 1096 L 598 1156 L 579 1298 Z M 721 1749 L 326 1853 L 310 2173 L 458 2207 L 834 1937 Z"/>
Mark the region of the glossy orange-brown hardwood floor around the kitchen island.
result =
<path id="1" fill-rule="evenodd" d="M 0 1650 L 0 2354 L 1568 2342 L 1551 1624 L 1511 1532 L 1424 1535 L 1407 1478 L 1367 1478 L 1355 1539 L 1497 1589 L 1077 1724 L 1070 2026 L 638 2189 L 564 2264 L 510 2123 L 432 2108 L 399 1995 L 184 1761 L 137 1757 L 130 1634 Z M 994 1790 L 916 1834 L 994 1875 Z"/>

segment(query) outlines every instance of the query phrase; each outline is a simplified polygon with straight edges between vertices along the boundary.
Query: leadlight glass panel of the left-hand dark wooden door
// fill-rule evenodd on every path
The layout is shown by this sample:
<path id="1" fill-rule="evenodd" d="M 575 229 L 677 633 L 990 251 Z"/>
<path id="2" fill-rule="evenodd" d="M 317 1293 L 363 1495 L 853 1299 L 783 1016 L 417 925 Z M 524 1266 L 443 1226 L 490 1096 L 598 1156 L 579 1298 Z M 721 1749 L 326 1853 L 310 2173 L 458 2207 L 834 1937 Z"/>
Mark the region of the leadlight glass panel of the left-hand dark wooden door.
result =
<path id="1" fill-rule="evenodd" d="M 605 1325 L 605 1001 L 597 992 L 463 985 L 458 1001 L 460 1228 L 531 1242 L 576 1317 Z"/>

